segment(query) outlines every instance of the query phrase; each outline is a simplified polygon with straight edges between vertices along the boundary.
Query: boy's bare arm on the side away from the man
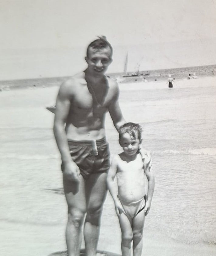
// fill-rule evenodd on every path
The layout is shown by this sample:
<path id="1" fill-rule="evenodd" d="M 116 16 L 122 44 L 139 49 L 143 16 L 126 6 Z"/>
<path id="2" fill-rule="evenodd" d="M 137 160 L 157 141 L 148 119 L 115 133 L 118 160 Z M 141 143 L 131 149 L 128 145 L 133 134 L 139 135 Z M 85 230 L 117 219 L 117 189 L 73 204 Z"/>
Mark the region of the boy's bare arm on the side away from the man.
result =
<path id="1" fill-rule="evenodd" d="M 152 197 L 153 197 L 154 188 L 155 188 L 155 177 L 154 177 L 154 172 L 152 168 L 152 163 L 148 164 L 146 163 L 146 161 L 144 161 L 143 165 L 144 165 L 144 172 L 148 179 L 148 194 L 147 194 L 147 201 L 145 206 L 145 212 L 147 215 L 149 213 L 151 203 L 152 203 Z"/>

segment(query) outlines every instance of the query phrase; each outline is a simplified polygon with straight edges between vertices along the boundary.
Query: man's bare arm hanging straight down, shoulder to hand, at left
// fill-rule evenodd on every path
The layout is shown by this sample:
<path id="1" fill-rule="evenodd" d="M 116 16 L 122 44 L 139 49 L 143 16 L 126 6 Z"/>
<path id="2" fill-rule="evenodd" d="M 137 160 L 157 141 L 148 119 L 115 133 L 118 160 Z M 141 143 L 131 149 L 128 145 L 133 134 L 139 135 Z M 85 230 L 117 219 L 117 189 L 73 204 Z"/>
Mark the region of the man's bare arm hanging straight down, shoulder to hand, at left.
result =
<path id="1" fill-rule="evenodd" d="M 56 110 L 54 118 L 53 132 L 57 142 L 58 149 L 61 154 L 63 163 L 63 173 L 67 175 L 70 180 L 79 180 L 79 168 L 71 160 L 70 151 L 67 142 L 67 135 L 65 132 L 65 124 L 70 110 L 71 100 L 70 84 L 64 82 L 59 89 L 56 100 Z"/>

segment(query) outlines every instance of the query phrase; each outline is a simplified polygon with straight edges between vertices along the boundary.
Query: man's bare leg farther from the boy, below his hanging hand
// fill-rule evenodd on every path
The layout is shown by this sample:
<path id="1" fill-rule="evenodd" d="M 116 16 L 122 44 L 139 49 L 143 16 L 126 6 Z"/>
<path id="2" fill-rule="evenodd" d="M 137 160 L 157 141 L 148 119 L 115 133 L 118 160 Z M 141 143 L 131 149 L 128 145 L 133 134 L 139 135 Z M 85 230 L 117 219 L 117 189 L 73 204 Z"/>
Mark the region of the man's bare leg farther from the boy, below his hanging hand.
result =
<path id="1" fill-rule="evenodd" d="M 68 256 L 79 256 L 82 241 L 82 223 L 86 212 L 85 182 L 80 175 L 79 184 L 63 177 L 65 198 L 68 205 L 66 243 Z"/>

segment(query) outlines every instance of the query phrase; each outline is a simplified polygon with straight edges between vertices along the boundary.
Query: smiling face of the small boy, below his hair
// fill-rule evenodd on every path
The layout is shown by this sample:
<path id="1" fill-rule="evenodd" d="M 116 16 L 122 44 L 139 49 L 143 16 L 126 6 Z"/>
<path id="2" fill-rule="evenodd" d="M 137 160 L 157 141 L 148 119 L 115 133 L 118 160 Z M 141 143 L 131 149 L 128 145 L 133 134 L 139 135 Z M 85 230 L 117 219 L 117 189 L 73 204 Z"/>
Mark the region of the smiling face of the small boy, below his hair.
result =
<path id="1" fill-rule="evenodd" d="M 122 146 L 124 152 L 128 156 L 134 156 L 139 150 L 139 145 L 142 142 L 139 139 L 131 137 L 129 133 L 124 133 L 121 135 L 121 139 L 119 139 L 119 144 Z"/>

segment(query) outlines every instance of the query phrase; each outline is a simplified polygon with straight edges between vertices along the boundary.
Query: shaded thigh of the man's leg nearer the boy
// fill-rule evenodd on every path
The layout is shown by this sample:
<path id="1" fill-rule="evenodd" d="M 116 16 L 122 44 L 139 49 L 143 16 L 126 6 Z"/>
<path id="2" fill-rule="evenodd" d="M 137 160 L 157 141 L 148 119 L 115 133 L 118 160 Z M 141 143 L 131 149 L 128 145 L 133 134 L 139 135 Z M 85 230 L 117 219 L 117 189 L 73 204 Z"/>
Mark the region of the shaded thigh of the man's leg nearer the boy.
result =
<path id="1" fill-rule="evenodd" d="M 107 194 L 107 174 L 91 174 L 86 181 L 86 203 L 87 210 L 100 210 Z"/>

